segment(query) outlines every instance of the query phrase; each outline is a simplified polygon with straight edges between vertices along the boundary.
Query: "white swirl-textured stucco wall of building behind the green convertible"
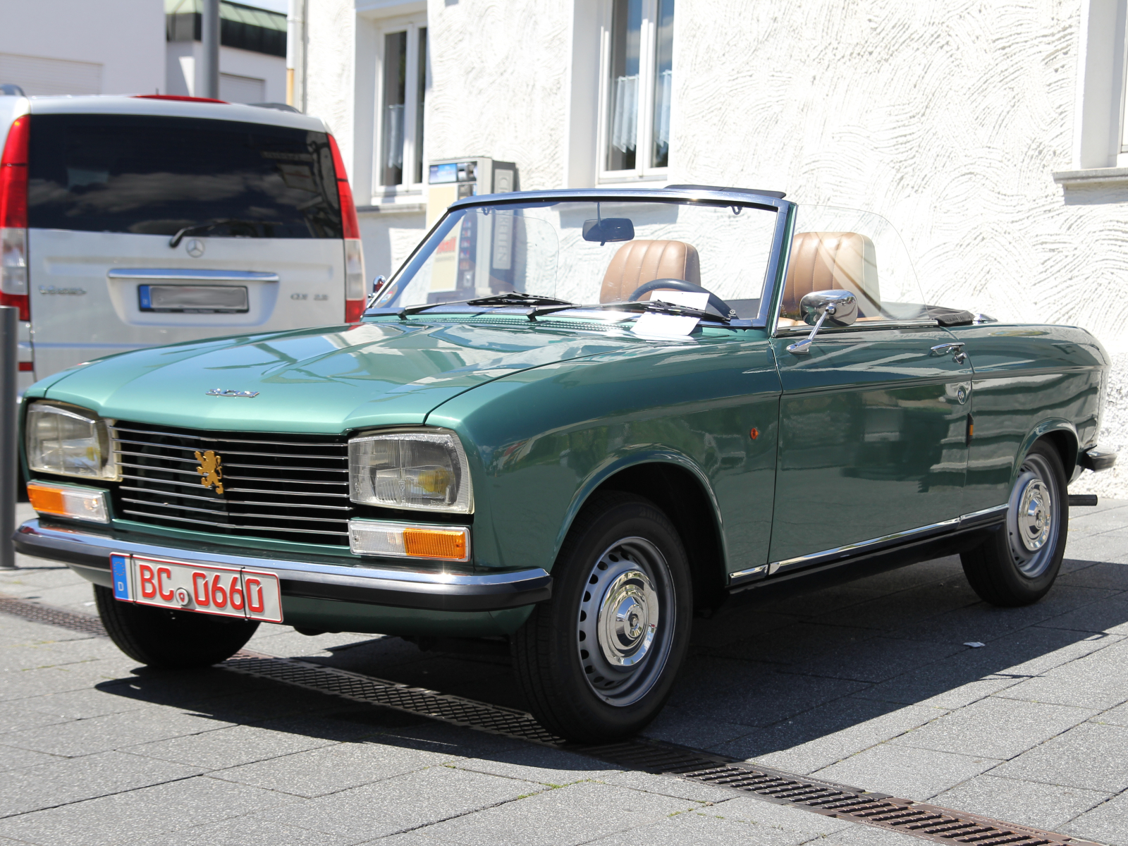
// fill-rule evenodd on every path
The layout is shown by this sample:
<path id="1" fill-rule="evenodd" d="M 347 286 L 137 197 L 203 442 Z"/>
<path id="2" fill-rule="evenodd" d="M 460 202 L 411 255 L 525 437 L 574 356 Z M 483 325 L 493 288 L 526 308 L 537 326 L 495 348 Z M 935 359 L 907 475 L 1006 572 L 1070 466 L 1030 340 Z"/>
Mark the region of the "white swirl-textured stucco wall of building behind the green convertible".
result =
<path id="1" fill-rule="evenodd" d="M 929 301 L 1092 331 L 1114 361 L 1101 442 L 1126 456 L 1073 490 L 1128 496 L 1128 188 L 1052 178 L 1074 166 L 1083 1 L 679 0 L 669 180 L 870 209 L 901 231 Z M 572 62 L 591 53 L 572 34 L 591 27 L 573 14 L 594 8 L 430 0 L 428 157 L 578 185 Z M 310 15 L 310 111 L 345 135 L 354 12 L 318 0 Z"/>

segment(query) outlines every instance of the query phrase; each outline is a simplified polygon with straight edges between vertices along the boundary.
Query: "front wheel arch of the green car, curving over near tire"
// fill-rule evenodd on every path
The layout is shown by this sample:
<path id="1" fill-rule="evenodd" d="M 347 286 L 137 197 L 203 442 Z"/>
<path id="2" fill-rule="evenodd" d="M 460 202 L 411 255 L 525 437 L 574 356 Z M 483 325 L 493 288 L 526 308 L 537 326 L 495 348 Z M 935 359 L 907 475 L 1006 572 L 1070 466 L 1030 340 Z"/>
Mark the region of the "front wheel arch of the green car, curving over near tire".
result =
<path id="1" fill-rule="evenodd" d="M 685 544 L 695 607 L 712 608 L 723 599 L 728 554 L 720 508 L 708 478 L 696 464 L 678 453 L 651 452 L 603 468 L 576 492 L 557 538 L 557 550 L 576 515 L 599 491 L 632 493 L 658 505 Z"/>

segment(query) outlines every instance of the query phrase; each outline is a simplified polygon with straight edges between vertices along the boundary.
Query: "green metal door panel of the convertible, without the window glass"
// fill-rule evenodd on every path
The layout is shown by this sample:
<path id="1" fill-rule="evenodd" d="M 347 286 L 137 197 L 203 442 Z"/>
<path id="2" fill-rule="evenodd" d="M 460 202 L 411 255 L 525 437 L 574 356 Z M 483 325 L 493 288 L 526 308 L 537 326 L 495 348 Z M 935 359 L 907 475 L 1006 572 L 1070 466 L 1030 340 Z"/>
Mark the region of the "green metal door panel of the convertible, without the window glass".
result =
<path id="1" fill-rule="evenodd" d="M 795 340 L 774 340 L 783 397 L 770 561 L 958 518 L 971 365 L 944 346 L 952 334 L 844 329 L 808 355 L 787 352 Z"/>

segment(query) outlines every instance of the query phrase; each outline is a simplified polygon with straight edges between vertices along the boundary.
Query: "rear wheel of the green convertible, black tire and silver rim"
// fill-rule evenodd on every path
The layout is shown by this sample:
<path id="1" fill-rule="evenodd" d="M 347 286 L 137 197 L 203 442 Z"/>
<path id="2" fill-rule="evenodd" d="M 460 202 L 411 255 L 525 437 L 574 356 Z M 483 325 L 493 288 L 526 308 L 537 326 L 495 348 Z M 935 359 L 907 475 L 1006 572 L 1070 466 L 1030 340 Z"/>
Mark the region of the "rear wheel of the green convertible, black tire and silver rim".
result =
<path id="1" fill-rule="evenodd" d="M 1006 522 L 960 561 L 971 589 L 985 602 L 1013 608 L 1046 596 L 1061 569 L 1069 534 L 1069 504 L 1061 457 L 1037 441 L 1019 468 Z"/>

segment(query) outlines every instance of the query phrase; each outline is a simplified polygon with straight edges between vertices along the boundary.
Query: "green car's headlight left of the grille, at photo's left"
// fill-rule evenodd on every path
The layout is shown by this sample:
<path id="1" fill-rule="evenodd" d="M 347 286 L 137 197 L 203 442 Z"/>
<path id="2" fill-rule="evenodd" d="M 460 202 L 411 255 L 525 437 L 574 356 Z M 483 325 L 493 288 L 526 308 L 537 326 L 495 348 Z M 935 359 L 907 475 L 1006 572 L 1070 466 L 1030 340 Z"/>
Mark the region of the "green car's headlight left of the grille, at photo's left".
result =
<path id="1" fill-rule="evenodd" d="M 120 476 L 106 421 L 76 406 L 33 403 L 27 411 L 27 464 L 60 476 L 116 481 Z"/>

